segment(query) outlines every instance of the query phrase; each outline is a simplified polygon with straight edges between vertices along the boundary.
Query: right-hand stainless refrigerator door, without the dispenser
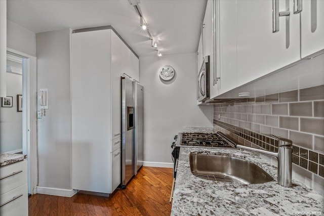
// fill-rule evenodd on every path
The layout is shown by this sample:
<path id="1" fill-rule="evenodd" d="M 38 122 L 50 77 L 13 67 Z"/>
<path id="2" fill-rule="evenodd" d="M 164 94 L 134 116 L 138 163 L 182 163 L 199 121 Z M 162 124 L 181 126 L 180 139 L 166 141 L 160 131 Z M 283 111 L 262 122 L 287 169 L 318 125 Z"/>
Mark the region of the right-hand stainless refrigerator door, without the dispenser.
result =
<path id="1" fill-rule="evenodd" d="M 144 87 L 135 84 L 135 175 L 137 171 L 143 166 L 144 160 Z"/>

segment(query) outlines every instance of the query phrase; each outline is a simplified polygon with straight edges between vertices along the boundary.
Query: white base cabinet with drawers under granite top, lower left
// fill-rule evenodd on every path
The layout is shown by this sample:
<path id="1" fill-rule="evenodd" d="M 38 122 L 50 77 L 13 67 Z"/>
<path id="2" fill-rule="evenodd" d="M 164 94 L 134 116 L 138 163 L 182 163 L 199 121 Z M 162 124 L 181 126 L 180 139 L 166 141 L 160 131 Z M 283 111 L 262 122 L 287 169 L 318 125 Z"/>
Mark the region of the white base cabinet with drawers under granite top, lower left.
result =
<path id="1" fill-rule="evenodd" d="M 27 160 L 0 167 L 0 215 L 28 215 Z"/>

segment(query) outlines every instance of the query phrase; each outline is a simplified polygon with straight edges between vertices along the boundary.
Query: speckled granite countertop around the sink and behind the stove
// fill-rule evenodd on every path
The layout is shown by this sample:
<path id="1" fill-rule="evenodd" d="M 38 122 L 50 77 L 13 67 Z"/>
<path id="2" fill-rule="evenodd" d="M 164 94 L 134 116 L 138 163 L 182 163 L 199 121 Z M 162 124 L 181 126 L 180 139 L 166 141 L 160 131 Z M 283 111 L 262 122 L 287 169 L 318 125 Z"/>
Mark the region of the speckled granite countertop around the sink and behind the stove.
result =
<path id="1" fill-rule="evenodd" d="M 215 132 L 215 129 L 210 129 L 209 133 Z M 194 127 L 186 127 L 183 131 L 202 132 Z M 190 171 L 191 152 L 248 160 L 262 167 L 274 180 L 244 185 L 197 178 Z M 171 215 L 296 215 L 296 212 L 307 211 L 321 211 L 323 214 L 323 196 L 294 179 L 292 188 L 282 187 L 276 180 L 276 166 L 257 153 L 238 149 L 183 147 L 179 155 Z"/>

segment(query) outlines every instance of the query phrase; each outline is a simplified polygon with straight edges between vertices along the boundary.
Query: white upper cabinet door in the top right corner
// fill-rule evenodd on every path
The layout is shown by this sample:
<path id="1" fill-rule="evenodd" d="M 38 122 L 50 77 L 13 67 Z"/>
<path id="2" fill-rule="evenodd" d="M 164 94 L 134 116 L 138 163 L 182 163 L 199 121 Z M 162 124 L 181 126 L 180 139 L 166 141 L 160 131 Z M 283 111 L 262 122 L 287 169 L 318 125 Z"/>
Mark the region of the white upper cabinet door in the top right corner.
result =
<path id="1" fill-rule="evenodd" d="M 301 57 L 324 49 L 324 1 L 303 0 L 301 12 Z"/>

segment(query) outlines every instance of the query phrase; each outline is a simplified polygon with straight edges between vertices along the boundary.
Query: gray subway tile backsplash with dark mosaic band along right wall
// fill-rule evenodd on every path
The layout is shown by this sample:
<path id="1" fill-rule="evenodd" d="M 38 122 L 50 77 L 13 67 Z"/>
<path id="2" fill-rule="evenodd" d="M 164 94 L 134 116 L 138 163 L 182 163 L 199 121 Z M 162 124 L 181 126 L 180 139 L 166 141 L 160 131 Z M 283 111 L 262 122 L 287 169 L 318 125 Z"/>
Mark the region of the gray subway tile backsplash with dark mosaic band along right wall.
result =
<path id="1" fill-rule="evenodd" d="M 291 139 L 294 170 L 324 182 L 324 85 L 214 107 L 214 125 L 240 144 L 277 151 L 271 134 Z"/>

